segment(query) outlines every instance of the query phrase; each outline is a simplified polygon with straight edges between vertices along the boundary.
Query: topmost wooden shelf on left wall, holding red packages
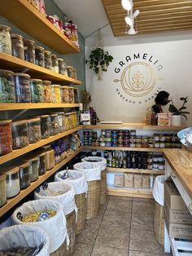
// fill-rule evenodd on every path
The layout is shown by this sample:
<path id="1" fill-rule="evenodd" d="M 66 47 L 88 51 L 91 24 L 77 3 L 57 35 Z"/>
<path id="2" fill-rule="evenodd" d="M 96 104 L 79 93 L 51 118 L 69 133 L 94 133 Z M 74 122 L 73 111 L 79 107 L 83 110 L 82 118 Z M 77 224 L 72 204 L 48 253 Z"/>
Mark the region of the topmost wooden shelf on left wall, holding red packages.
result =
<path id="1" fill-rule="evenodd" d="M 71 40 L 26 0 L 0 1 L 0 15 L 60 54 L 79 52 Z"/>

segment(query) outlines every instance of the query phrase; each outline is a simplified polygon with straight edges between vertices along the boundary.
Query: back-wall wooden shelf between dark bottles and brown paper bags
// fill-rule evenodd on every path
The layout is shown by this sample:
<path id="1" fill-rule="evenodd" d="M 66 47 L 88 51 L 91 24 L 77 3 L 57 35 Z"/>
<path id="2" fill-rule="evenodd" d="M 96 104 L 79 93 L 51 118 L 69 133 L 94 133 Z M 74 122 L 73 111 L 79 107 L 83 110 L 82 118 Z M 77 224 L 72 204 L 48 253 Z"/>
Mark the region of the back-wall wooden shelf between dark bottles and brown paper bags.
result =
<path id="1" fill-rule="evenodd" d="M 124 168 L 111 168 L 107 167 L 108 172 L 113 172 L 113 173 L 134 173 L 134 174 L 164 174 L 164 170 L 144 170 L 144 169 L 124 169 Z"/>

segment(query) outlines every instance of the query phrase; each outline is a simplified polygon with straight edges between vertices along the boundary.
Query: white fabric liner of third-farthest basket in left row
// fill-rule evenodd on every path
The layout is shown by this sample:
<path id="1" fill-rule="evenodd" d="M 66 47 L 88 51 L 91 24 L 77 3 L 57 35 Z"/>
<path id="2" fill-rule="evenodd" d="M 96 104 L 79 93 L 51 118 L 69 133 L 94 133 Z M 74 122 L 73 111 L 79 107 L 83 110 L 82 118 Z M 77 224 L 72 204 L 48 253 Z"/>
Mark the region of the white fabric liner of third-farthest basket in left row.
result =
<path id="1" fill-rule="evenodd" d="M 76 195 L 80 195 L 87 192 L 88 185 L 85 174 L 83 172 L 78 170 L 68 170 L 69 178 L 62 179 L 65 172 L 66 170 L 61 170 L 57 174 L 55 174 L 55 181 L 72 185 Z"/>

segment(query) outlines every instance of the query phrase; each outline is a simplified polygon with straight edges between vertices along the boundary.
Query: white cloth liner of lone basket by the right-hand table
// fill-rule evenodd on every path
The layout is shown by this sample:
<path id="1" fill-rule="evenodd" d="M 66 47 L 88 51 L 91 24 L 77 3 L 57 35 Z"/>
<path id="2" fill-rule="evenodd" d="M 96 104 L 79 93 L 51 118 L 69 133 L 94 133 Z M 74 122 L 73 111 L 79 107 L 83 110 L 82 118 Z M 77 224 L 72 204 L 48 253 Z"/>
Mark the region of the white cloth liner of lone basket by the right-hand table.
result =
<path id="1" fill-rule="evenodd" d="M 167 177 L 165 175 L 157 176 L 153 187 L 153 197 L 162 206 L 164 206 L 164 181 L 166 179 Z"/>

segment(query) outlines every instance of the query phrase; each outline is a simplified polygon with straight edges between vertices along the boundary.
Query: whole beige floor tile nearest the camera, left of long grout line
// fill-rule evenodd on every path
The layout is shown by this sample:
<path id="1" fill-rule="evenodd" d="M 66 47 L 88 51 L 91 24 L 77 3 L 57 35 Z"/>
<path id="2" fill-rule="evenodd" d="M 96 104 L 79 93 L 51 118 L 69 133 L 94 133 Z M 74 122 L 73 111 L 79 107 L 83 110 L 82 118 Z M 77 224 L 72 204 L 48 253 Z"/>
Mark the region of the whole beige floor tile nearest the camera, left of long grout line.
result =
<path id="1" fill-rule="evenodd" d="M 129 228 L 101 225 L 95 245 L 128 249 Z"/>

